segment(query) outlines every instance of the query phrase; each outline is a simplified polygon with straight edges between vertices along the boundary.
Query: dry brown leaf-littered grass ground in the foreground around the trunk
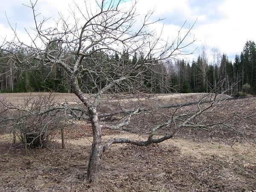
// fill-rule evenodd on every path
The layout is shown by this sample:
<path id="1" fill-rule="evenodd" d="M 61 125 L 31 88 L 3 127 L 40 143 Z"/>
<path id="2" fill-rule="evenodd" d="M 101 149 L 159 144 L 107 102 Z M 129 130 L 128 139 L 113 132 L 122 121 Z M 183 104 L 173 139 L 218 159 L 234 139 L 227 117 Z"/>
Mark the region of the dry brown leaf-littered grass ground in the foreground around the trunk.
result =
<path id="1" fill-rule="evenodd" d="M 22 94 L 0 97 L 18 103 L 24 99 Z M 63 99 L 68 95 L 59 96 Z M 189 97 L 197 99 L 193 94 L 182 98 L 163 96 L 175 103 L 186 102 Z M 75 97 L 69 99 L 77 102 Z M 255 110 L 255 99 L 250 103 L 247 107 Z M 66 129 L 65 149 L 61 148 L 60 132 L 55 134 L 46 148 L 29 148 L 29 156 L 25 157 L 23 146 L 12 144 L 12 134 L 0 131 L 0 192 L 256 191 L 256 145 L 246 141 L 228 145 L 201 134 L 193 137 L 180 133 L 147 147 L 111 145 L 103 154 L 98 181 L 89 184 L 86 172 L 92 142 L 90 125 L 81 123 L 79 129 Z M 103 130 L 103 135 L 104 141 L 111 137 L 146 140 L 136 127 L 128 131 Z"/>

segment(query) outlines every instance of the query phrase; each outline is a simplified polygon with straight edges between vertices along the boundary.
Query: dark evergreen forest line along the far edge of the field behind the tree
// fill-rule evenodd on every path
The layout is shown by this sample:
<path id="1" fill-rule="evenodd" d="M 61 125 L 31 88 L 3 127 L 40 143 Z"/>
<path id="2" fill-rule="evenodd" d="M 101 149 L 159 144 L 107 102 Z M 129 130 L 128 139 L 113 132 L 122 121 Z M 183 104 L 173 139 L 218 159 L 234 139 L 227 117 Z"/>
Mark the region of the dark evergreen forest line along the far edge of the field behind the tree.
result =
<path id="1" fill-rule="evenodd" d="M 54 53 L 58 42 L 51 44 Z M 20 61 L 29 57 L 23 49 L 15 50 Z M 68 50 L 66 50 L 68 54 Z M 94 52 L 94 48 L 90 50 Z M 63 53 L 62 53 L 63 54 Z M 117 78 L 124 67 L 134 66 L 144 62 L 143 53 L 129 55 L 128 51 L 121 54 L 96 51 L 91 59 L 84 61 L 84 70 L 81 71 L 81 84 L 84 93 L 97 93 L 104 87 L 107 78 Z M 151 58 L 154 56 L 152 55 Z M 75 62 L 76 58 L 69 58 L 67 64 Z M 108 66 L 108 74 L 99 76 L 95 71 L 102 71 L 102 67 L 95 64 L 98 60 L 104 60 Z M 112 61 L 117 61 L 119 66 L 109 66 Z M 237 54 L 232 63 L 226 54 L 221 54 L 217 48 L 211 49 L 211 61 L 207 55 L 206 45 L 202 45 L 201 53 L 197 60 L 191 63 L 184 60 L 154 61 L 145 64 L 145 67 L 137 71 L 131 71 L 130 81 L 136 81 L 136 89 L 148 93 L 207 93 L 213 90 L 217 84 L 221 89 L 229 90 L 229 93 L 238 94 L 246 90 L 247 93 L 256 94 L 256 44 L 247 41 L 241 54 Z M 6 57 L 6 53 L 0 53 L 0 92 L 44 92 L 55 91 L 61 93 L 72 93 L 72 86 L 65 70 L 60 66 L 48 66 L 43 62 L 29 61 L 31 65 L 18 64 L 15 59 Z M 39 65 L 39 66 L 38 66 Z M 34 67 L 33 67 L 34 66 Z M 95 66 L 98 69 L 95 69 Z M 105 67 L 106 67 L 105 66 Z M 93 69 L 94 73 L 90 73 Z M 119 73 L 115 71 L 119 70 Z M 107 77 L 107 78 L 106 78 Z M 131 93 L 134 87 L 123 87 L 123 92 Z"/>

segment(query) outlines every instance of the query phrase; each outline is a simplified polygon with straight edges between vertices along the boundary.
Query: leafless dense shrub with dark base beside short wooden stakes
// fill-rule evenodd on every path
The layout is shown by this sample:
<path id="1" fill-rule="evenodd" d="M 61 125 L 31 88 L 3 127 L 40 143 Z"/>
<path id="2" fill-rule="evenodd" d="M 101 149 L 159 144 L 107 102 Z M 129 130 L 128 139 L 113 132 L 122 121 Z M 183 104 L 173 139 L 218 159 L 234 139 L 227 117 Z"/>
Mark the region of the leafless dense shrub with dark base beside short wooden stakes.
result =
<path id="1" fill-rule="evenodd" d="M 56 106 L 53 101 L 54 95 L 51 93 L 49 96 L 29 97 L 22 103 L 20 110 L 14 111 L 15 121 L 12 122 L 12 127 L 22 143 L 25 143 L 26 134 L 30 147 L 44 147 L 55 130 L 64 128 L 66 123 L 62 111 L 40 113 Z"/>

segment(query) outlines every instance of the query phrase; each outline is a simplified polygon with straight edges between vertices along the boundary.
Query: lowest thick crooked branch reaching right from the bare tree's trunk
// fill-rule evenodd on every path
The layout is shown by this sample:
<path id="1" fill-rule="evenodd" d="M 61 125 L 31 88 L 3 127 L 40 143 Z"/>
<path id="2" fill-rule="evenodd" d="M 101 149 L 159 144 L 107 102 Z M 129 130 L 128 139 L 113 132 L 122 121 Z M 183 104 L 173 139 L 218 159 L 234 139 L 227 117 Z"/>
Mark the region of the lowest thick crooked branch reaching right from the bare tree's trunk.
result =
<path id="1" fill-rule="evenodd" d="M 142 140 L 132 140 L 128 138 L 111 138 L 105 143 L 103 151 L 106 151 L 110 145 L 116 144 L 116 143 L 129 143 L 129 144 L 141 145 L 141 146 L 150 145 L 151 143 L 160 143 L 160 142 L 163 142 L 164 140 L 168 140 L 174 137 L 175 134 L 177 134 L 177 132 L 181 128 L 198 129 L 198 130 L 204 131 L 204 133 L 208 133 L 208 135 L 215 133 L 219 137 L 220 136 L 225 137 L 225 134 L 227 134 L 230 131 L 233 131 L 236 134 L 239 134 L 242 137 L 245 137 L 242 131 L 239 131 L 239 129 L 234 128 L 234 125 L 232 122 L 236 117 L 239 117 L 239 118 L 243 117 L 243 120 L 252 119 L 253 121 L 256 121 L 256 116 L 255 116 L 255 113 L 250 114 L 248 116 L 242 115 L 240 110 L 243 106 L 240 106 L 241 108 L 238 108 L 238 106 L 236 105 L 235 106 L 236 111 L 233 111 L 233 113 L 230 113 L 229 115 L 224 116 L 223 119 L 220 119 L 212 123 L 207 123 L 200 120 L 200 117 L 206 114 L 207 115 L 210 114 L 210 118 L 214 119 L 214 116 L 216 116 L 216 111 L 221 111 L 223 110 L 223 108 L 226 108 L 227 106 L 233 109 L 234 107 L 230 105 L 230 103 L 226 103 L 228 102 L 228 98 L 229 97 L 226 97 L 225 99 L 222 98 L 221 94 L 208 93 L 204 97 L 202 97 L 198 101 L 198 103 L 195 105 L 197 108 L 196 111 L 177 115 L 175 113 L 177 112 L 178 108 L 176 108 L 176 110 L 172 113 L 172 118 L 169 121 L 161 125 L 154 126 L 154 128 L 151 129 L 147 140 L 142 141 Z M 140 113 L 145 113 L 145 109 L 144 111 L 140 110 Z M 154 113 L 154 112 L 151 111 L 151 113 Z M 131 113 L 129 117 L 131 117 L 131 115 L 137 115 L 137 113 Z M 175 126 L 173 125 L 173 122 L 176 122 Z M 177 124 L 177 122 L 179 123 Z M 126 121 L 122 125 L 128 125 L 128 121 Z M 120 128 L 120 126 L 112 126 L 112 127 L 116 129 Z M 159 131 L 162 128 L 167 128 L 169 130 L 168 131 L 169 133 L 168 132 L 165 133 L 164 136 L 160 136 L 159 134 L 157 134 L 157 131 Z M 226 128 L 225 131 L 224 131 L 224 128 Z M 155 135 L 157 135 L 157 138 L 154 138 Z"/>

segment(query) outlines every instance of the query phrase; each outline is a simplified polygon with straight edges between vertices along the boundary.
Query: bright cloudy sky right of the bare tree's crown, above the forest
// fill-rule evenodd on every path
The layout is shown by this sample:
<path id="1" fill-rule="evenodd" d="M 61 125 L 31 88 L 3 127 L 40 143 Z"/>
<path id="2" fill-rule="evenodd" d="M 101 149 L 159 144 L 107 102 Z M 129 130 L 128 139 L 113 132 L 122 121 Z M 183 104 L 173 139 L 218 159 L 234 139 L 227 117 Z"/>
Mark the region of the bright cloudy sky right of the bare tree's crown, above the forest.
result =
<path id="1" fill-rule="evenodd" d="M 165 38 L 175 35 L 171 29 L 177 29 L 185 20 L 192 24 L 197 19 L 192 35 L 198 42 L 191 49 L 205 42 L 209 49 L 219 47 L 221 52 L 233 59 L 247 40 L 256 41 L 254 0 L 140 0 L 138 4 L 138 10 L 143 10 L 144 14 L 145 10 L 154 7 L 154 19 L 166 18 L 162 23 L 170 33 L 165 32 Z M 196 57 L 191 55 L 189 58 Z"/>

